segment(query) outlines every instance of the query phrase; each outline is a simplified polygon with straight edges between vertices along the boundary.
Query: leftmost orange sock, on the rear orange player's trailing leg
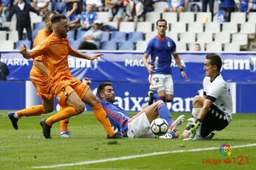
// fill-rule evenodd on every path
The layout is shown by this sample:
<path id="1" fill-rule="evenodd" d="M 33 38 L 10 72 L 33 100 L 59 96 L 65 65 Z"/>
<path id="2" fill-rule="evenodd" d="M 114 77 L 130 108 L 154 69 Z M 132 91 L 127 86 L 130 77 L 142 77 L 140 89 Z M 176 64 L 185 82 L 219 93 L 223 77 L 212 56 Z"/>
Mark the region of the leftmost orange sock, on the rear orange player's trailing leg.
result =
<path id="1" fill-rule="evenodd" d="M 22 116 L 40 116 L 41 114 L 47 113 L 43 105 L 36 105 L 33 107 L 25 108 L 23 110 L 17 111 L 19 118 Z"/>

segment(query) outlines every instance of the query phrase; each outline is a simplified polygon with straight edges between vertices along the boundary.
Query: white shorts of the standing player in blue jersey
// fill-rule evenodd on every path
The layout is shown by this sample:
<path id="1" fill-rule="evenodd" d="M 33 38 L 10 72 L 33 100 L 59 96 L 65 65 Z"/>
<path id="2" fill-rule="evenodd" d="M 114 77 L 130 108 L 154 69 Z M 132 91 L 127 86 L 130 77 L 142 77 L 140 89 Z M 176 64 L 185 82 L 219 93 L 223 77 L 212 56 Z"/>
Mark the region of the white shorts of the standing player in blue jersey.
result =
<path id="1" fill-rule="evenodd" d="M 150 75 L 148 77 L 150 81 L 150 90 L 151 91 L 163 91 L 165 90 L 165 94 L 173 94 L 173 76 L 171 75 Z"/>

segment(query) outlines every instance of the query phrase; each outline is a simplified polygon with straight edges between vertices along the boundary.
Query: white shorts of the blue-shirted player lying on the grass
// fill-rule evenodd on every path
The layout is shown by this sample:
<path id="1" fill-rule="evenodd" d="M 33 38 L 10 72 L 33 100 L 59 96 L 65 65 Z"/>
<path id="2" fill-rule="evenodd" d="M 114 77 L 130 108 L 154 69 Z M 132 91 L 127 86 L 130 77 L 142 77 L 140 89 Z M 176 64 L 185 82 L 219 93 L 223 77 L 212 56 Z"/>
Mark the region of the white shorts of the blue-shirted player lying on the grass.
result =
<path id="1" fill-rule="evenodd" d="M 128 121 L 129 138 L 154 138 L 155 134 L 150 129 L 150 122 L 145 110 L 140 111 Z"/>

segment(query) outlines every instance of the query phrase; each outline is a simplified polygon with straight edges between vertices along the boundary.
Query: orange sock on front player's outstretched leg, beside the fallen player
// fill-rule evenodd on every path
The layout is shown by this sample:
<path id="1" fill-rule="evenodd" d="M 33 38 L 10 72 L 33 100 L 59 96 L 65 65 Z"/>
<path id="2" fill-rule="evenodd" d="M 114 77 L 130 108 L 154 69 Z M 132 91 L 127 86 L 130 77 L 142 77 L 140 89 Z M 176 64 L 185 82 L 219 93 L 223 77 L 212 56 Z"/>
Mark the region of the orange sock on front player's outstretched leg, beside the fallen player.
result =
<path id="1" fill-rule="evenodd" d="M 100 121 L 100 123 L 104 126 L 107 134 L 109 136 L 113 136 L 115 134 L 110 121 L 108 119 L 108 116 L 106 115 L 105 110 L 103 110 L 101 103 L 96 105 L 95 107 L 92 108 L 94 115 L 96 116 L 96 118 L 98 119 L 98 121 Z"/>

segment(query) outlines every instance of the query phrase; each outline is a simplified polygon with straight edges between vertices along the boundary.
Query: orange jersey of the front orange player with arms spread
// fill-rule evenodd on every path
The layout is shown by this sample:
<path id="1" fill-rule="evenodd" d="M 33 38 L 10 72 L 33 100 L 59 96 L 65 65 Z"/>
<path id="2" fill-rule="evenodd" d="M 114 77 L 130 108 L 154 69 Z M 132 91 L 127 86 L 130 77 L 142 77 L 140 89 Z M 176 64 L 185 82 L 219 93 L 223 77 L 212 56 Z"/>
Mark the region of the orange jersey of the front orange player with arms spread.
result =
<path id="1" fill-rule="evenodd" d="M 72 52 L 72 47 L 69 46 L 69 39 L 58 38 L 51 34 L 44 41 L 41 41 L 30 52 L 34 56 L 44 55 L 46 68 L 48 70 L 51 84 L 54 85 L 56 81 L 62 78 L 74 78 L 69 70 L 67 55 Z"/>

